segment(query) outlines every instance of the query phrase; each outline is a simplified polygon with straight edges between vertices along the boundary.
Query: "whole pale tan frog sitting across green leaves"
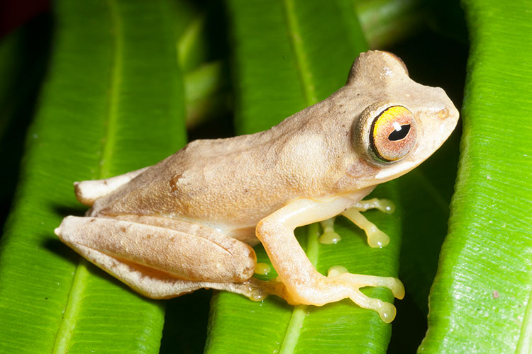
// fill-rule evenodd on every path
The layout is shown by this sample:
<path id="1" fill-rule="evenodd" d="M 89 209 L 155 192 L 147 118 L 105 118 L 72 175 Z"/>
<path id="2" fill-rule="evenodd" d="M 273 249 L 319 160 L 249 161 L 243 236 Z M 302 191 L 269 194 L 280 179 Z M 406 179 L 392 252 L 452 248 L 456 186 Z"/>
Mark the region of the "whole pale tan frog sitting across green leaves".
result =
<path id="1" fill-rule="evenodd" d="M 360 289 L 385 287 L 401 299 L 399 279 L 318 273 L 294 229 L 343 215 L 366 230 L 370 247 L 386 246 L 360 213 L 379 203 L 363 198 L 431 156 L 458 117 L 445 91 L 410 79 L 399 57 L 363 52 L 345 86 L 269 130 L 195 140 L 153 166 L 75 182 L 89 210 L 65 217 L 55 234 L 153 299 L 201 288 L 293 305 L 350 299 L 389 323 L 394 305 Z M 253 276 L 259 243 L 275 280 Z"/>

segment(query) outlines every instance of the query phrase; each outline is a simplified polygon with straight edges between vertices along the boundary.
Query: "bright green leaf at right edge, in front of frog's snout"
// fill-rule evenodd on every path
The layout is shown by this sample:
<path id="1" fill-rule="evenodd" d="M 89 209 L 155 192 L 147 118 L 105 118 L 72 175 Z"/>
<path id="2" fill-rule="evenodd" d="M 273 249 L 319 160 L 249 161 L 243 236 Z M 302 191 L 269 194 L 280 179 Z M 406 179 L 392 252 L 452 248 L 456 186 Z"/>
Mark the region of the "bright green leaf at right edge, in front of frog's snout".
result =
<path id="1" fill-rule="evenodd" d="M 419 353 L 530 353 L 532 4 L 462 5 L 471 42 L 462 152 Z"/>

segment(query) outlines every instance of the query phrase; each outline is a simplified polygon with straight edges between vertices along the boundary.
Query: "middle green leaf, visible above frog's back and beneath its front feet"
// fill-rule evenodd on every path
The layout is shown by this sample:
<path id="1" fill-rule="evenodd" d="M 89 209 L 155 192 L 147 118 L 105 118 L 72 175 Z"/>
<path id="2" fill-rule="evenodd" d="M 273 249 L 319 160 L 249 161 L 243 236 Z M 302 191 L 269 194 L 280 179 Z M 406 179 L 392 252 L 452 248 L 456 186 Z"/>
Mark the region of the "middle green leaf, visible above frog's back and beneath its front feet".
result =
<path id="1" fill-rule="evenodd" d="M 228 1 L 228 16 L 240 133 L 265 130 L 326 98 L 343 86 L 353 60 L 366 49 L 346 1 Z M 375 196 L 393 199 L 392 185 Z M 318 271 L 340 264 L 352 273 L 397 276 L 400 212 L 366 216 L 392 237 L 385 249 L 370 249 L 363 232 L 342 218 L 336 222 L 341 244 L 319 244 L 317 225 L 297 230 Z M 267 262 L 262 247 L 256 251 L 258 261 Z M 392 300 L 387 290 L 367 293 Z M 212 302 L 206 353 L 384 353 L 389 336 L 390 325 L 377 313 L 348 300 L 292 307 L 275 297 L 250 302 L 222 292 Z"/>

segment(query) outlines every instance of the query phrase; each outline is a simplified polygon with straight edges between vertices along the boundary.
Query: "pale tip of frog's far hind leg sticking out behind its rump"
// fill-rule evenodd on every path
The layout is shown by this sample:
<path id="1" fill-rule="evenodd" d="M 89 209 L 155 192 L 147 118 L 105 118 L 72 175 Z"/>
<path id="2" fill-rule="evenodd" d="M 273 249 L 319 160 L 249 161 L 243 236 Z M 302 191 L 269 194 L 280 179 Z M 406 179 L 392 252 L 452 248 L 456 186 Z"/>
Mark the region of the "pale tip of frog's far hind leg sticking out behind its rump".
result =
<path id="1" fill-rule="evenodd" d="M 148 169 L 148 167 L 111 178 L 74 182 L 74 192 L 76 193 L 76 198 L 84 205 L 92 207 L 96 199 L 101 198 L 104 195 L 111 193 L 113 190 L 120 188 L 122 185 L 140 175 L 140 173 L 146 171 L 146 169 Z"/>

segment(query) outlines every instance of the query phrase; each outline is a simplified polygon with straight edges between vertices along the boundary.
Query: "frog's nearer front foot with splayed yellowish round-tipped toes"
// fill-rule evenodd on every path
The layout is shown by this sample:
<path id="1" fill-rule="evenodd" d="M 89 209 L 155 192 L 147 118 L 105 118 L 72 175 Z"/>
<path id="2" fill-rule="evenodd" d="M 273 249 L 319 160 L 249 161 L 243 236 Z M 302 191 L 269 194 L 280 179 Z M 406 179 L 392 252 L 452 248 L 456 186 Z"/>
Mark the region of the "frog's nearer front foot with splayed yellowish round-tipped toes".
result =
<path id="1" fill-rule="evenodd" d="M 302 304 L 321 306 L 348 297 L 363 309 L 372 309 L 377 312 L 382 321 L 392 322 L 397 312 L 394 305 L 367 297 L 360 291 L 362 287 L 387 287 L 397 299 L 404 297 L 404 286 L 397 278 L 342 273 L 318 278 L 318 281 L 311 287 L 303 286 L 294 289 L 297 294 L 294 295 L 294 299 Z"/>

